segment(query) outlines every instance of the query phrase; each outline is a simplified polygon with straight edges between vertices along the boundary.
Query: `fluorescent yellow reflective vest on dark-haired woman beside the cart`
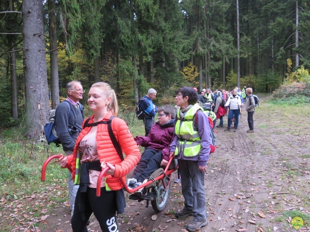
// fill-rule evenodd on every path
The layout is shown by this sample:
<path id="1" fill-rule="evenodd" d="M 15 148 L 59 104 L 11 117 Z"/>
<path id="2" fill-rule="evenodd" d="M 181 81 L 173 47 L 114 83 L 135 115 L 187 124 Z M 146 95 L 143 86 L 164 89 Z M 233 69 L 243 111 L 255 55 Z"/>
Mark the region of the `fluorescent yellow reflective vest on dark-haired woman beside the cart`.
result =
<path id="1" fill-rule="evenodd" d="M 179 155 L 180 152 L 186 157 L 199 155 L 201 139 L 194 126 L 194 120 L 197 111 L 200 109 L 203 111 L 202 107 L 196 103 L 185 113 L 183 119 L 180 119 L 181 109 L 178 110 L 174 131 L 179 140 L 175 148 L 175 156 Z"/>

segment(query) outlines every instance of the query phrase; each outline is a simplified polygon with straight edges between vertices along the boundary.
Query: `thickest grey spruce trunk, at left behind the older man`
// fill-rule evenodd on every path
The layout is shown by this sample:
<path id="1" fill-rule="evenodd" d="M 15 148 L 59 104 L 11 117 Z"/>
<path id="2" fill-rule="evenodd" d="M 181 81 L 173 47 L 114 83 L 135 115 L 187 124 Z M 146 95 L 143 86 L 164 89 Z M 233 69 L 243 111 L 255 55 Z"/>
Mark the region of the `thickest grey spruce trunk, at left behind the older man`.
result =
<path id="1" fill-rule="evenodd" d="M 42 0 L 23 0 L 23 53 L 27 139 L 43 139 L 48 118 L 46 48 Z"/>

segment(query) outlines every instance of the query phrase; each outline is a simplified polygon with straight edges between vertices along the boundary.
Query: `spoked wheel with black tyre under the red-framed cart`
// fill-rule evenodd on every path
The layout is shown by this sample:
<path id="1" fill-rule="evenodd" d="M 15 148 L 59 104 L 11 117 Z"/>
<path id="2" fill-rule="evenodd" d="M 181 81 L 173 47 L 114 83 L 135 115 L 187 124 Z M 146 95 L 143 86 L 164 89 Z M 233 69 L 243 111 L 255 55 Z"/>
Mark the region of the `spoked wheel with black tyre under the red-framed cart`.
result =
<path id="1" fill-rule="evenodd" d="M 165 186 L 167 187 L 166 189 L 164 188 L 163 181 L 165 183 Z M 170 177 L 165 176 L 163 179 L 159 180 L 158 182 L 156 199 L 151 201 L 152 207 L 156 212 L 160 212 L 166 207 L 169 194 L 170 194 L 169 181 L 170 181 Z M 155 189 L 153 188 L 152 191 L 155 191 Z"/>

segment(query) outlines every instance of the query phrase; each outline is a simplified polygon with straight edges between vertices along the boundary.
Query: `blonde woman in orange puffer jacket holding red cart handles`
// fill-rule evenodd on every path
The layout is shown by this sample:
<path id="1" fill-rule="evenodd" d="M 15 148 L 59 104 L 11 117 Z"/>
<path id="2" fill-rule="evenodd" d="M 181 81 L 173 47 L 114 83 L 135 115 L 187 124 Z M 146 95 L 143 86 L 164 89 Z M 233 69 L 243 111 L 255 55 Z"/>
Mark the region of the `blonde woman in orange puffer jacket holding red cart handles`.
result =
<path id="1" fill-rule="evenodd" d="M 140 160 L 140 150 L 124 120 L 116 117 L 118 104 L 113 89 L 103 82 L 92 85 L 87 100 L 93 116 L 78 135 L 73 154 L 62 157 L 58 163 L 64 168 L 72 166 L 75 184 L 79 184 L 75 209 L 71 219 L 74 232 L 87 232 L 87 222 L 93 213 L 103 232 L 118 231 L 116 212 L 124 213 L 125 198 L 119 178 L 125 175 Z M 113 134 L 126 158 L 122 161 L 109 136 L 108 125 L 111 121 Z M 104 168 L 106 172 L 101 182 L 101 196 L 96 197 L 98 176 Z"/>

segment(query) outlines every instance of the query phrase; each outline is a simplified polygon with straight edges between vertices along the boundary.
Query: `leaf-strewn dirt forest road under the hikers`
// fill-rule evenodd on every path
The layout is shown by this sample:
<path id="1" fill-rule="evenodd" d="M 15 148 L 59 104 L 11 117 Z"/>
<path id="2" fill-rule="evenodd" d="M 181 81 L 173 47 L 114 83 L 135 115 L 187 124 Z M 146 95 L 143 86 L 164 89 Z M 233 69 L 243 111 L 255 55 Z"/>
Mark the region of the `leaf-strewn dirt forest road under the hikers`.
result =
<path id="1" fill-rule="evenodd" d="M 208 225 L 201 232 L 294 232 L 296 212 L 308 218 L 299 232 L 310 232 L 310 118 L 305 119 L 307 125 L 296 125 L 294 114 L 267 114 L 267 110 L 268 106 L 256 107 L 255 133 L 246 132 L 245 111 L 238 132 L 216 129 L 218 148 L 210 155 L 205 176 Z M 224 120 L 227 125 L 226 116 Z M 174 217 L 184 199 L 180 184 L 171 187 L 169 202 L 160 213 L 146 208 L 145 202 L 128 200 L 119 231 L 185 232 L 192 216 Z M 41 230 L 71 231 L 65 212 L 64 207 L 55 209 Z M 89 231 L 101 231 L 94 217 Z"/>

